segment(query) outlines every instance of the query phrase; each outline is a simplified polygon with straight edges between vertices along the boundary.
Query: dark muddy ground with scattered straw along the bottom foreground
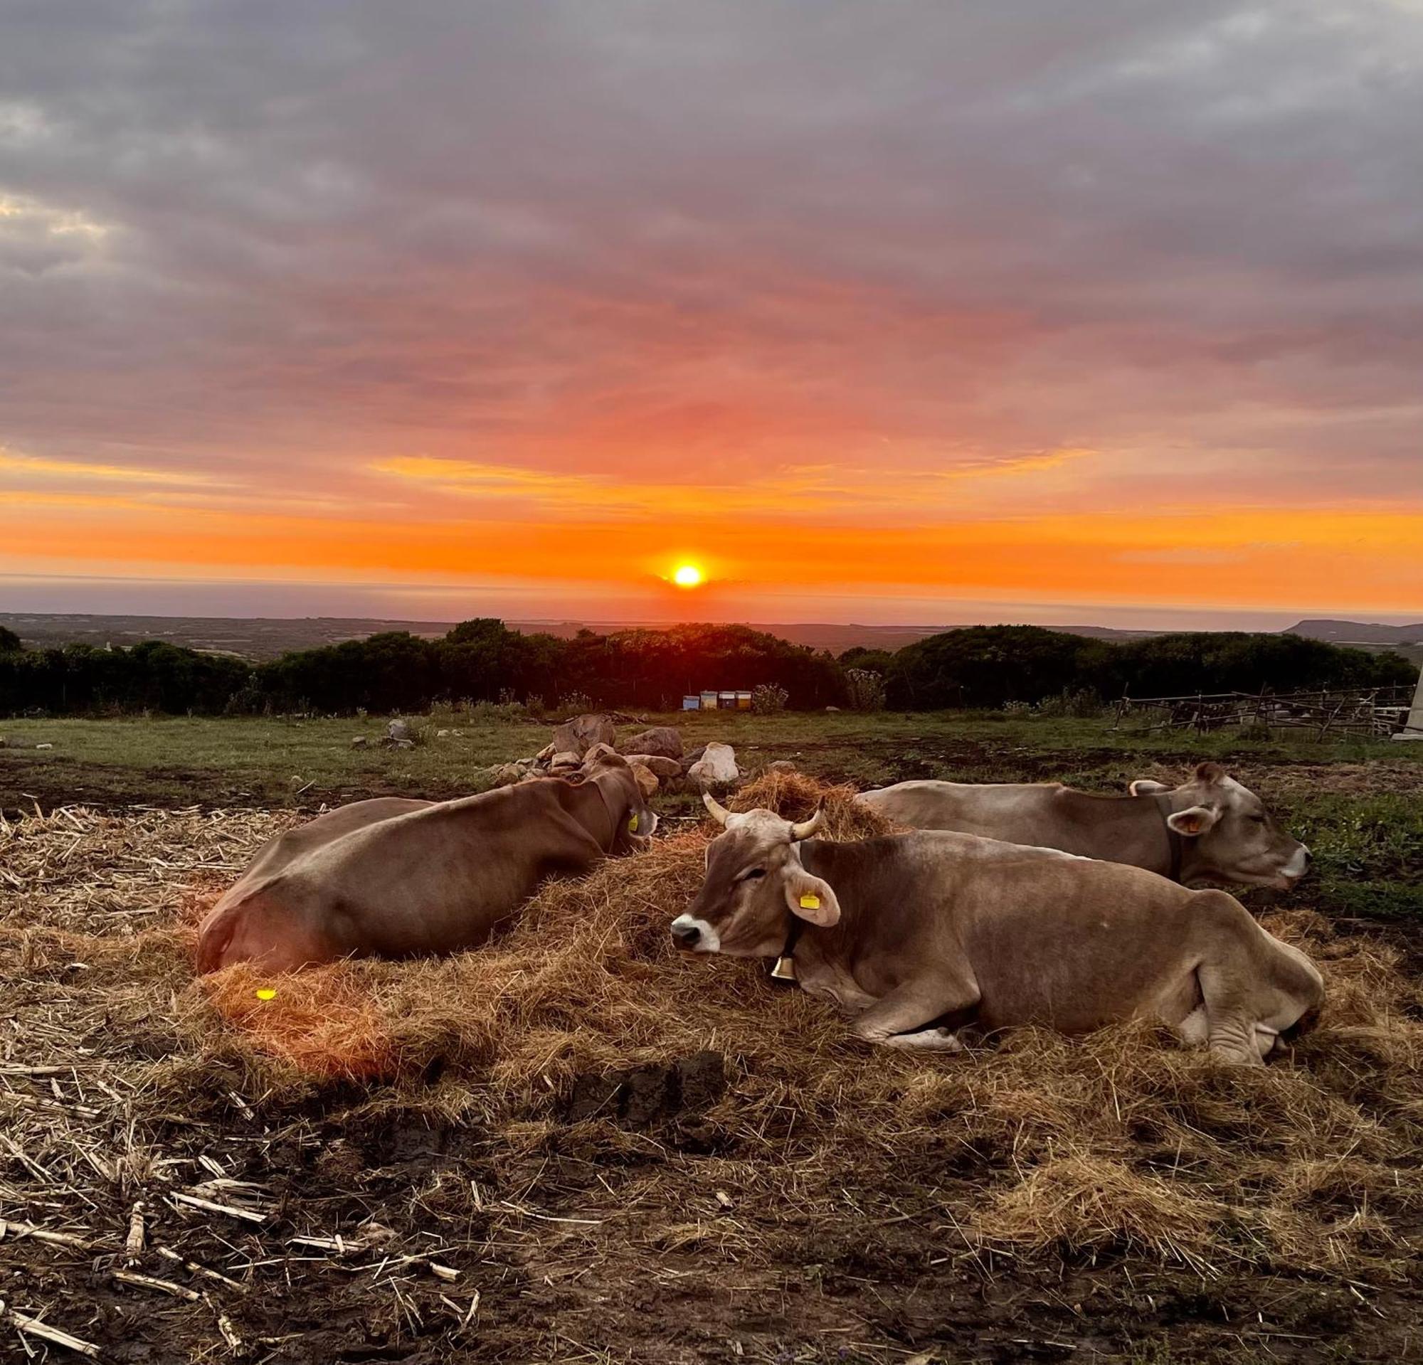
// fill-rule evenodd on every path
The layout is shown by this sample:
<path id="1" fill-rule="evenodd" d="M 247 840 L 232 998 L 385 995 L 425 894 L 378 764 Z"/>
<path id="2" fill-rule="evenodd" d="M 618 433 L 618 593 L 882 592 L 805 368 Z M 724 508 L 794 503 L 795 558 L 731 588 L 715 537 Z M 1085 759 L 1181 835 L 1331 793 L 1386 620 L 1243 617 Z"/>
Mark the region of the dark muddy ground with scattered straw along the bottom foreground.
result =
<path id="1" fill-rule="evenodd" d="M 571 1126 L 514 1153 L 464 1128 L 353 1129 L 320 1106 L 300 1119 L 233 1112 L 216 1133 L 175 1126 L 164 1149 L 221 1152 L 240 1179 L 265 1186 L 279 1213 L 250 1231 L 221 1216 L 164 1211 L 152 1236 L 195 1264 L 225 1267 L 242 1292 L 152 1253 L 145 1270 L 208 1298 L 117 1287 L 105 1274 L 111 1254 L 92 1258 L 87 1277 L 80 1258 L 33 1244 L 18 1265 L 21 1247 L 4 1246 L 0 1264 L 31 1300 L 53 1298 L 55 1317 L 114 1362 L 1419 1358 L 1419 1283 L 1353 1290 L 1229 1267 L 1171 1270 L 1130 1254 L 1091 1264 L 965 1250 L 939 1211 L 973 1193 L 975 1160 L 952 1142 L 847 1153 L 840 1207 L 800 1210 L 758 1206 L 763 1153 L 740 1155 L 746 1184 L 719 1186 L 723 1204 L 697 1180 L 714 1135 L 686 1119 L 639 1132 L 640 1142 L 609 1147 Z M 703 1207 L 676 1237 L 663 1231 L 666 1210 L 642 1197 L 649 1176 L 666 1183 L 669 1162 L 679 1186 L 669 1201 Z M 423 1201 L 454 1187 L 462 1199 L 471 1183 L 484 1210 L 471 1201 L 458 1237 L 425 1243 L 457 1273 L 453 1283 L 425 1264 L 383 1265 L 379 1250 L 273 1254 L 313 1221 L 350 1236 L 370 1219 L 401 1247 L 418 1247 Z M 127 1210 L 95 1210 L 95 1221 L 124 1226 Z M 649 1230 L 667 1243 L 656 1254 Z M 219 1312 L 242 1342 L 236 1352 Z M 0 1342 L 0 1355 L 23 1358 L 13 1337 Z"/>

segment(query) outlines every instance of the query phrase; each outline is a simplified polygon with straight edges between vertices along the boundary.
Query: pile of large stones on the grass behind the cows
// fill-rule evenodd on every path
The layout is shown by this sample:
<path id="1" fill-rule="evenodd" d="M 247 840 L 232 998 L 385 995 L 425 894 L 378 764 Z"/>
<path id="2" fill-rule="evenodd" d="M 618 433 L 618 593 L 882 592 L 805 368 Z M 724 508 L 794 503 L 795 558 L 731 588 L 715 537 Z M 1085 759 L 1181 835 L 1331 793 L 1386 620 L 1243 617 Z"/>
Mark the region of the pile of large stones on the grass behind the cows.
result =
<path id="1" fill-rule="evenodd" d="M 618 729 L 602 714 L 575 715 L 554 731 L 554 738 L 532 758 L 504 764 L 494 772 L 499 786 L 529 778 L 572 776 L 601 752 L 620 754 L 638 778 L 643 795 L 656 791 L 726 792 L 741 781 L 729 744 L 709 744 L 687 754 L 682 734 L 670 725 L 652 725 L 618 742 Z"/>

